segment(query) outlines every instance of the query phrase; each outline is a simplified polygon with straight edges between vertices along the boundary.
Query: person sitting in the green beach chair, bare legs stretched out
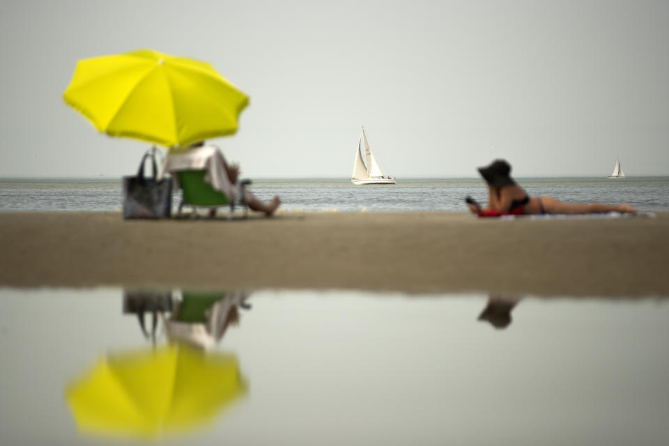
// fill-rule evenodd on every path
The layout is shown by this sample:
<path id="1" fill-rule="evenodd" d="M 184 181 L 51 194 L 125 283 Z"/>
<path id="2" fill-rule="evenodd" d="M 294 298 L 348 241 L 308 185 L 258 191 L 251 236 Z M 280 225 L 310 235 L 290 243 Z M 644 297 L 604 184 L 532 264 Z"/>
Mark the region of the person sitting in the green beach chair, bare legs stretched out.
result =
<path id="1" fill-rule="evenodd" d="M 241 194 L 252 210 L 272 215 L 279 207 L 281 200 L 278 195 L 267 203 L 257 199 L 254 194 L 240 187 L 239 164 L 228 164 L 223 154 L 213 145 L 205 145 L 204 141 L 191 144 L 183 149 L 172 149 L 165 160 L 164 171 L 172 174 L 182 170 L 205 170 L 205 180 L 214 190 L 226 194 L 230 200 L 240 199 Z M 215 209 L 211 210 L 215 213 Z"/>

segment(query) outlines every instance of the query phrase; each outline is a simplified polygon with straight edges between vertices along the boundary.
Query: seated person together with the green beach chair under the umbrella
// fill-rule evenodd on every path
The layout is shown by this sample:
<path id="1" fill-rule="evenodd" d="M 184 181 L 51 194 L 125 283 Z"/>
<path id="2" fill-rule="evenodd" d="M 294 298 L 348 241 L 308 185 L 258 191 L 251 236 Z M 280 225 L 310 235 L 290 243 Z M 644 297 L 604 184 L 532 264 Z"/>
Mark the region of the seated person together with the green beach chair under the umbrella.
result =
<path id="1" fill-rule="evenodd" d="M 230 205 L 232 217 L 235 203 L 241 203 L 270 217 L 281 203 L 278 196 L 267 203 L 257 199 L 245 188 L 251 182 L 239 181 L 239 165 L 228 164 L 217 146 L 204 141 L 169 151 L 163 170 L 183 192 L 179 214 L 187 205 L 209 208 L 209 216 L 214 217 L 217 207 Z"/>

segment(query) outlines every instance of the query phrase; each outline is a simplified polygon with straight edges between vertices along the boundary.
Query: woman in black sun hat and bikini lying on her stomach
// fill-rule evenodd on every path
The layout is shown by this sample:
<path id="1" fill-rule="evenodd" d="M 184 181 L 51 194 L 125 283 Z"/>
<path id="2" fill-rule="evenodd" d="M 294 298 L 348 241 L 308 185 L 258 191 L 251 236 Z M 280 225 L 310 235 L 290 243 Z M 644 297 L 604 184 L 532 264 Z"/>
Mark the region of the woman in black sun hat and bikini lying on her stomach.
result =
<path id="1" fill-rule="evenodd" d="M 636 213 L 629 204 L 562 203 L 553 197 L 530 197 L 511 178 L 511 166 L 505 160 L 495 160 L 479 173 L 488 184 L 488 206 L 482 208 L 471 197 L 466 198 L 472 213 L 479 217 L 523 214 L 590 214 L 590 213 Z"/>

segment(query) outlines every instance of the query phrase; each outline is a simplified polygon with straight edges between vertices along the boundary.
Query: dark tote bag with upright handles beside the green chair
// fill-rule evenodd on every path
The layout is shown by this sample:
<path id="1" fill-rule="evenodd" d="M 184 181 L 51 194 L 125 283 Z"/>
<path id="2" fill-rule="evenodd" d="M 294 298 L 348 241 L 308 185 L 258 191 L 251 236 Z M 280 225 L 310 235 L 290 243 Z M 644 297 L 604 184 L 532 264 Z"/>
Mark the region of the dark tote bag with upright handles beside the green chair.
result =
<path id="1" fill-rule="evenodd" d="M 151 157 L 153 177 L 144 176 L 144 163 Z M 169 218 L 172 208 L 172 181 L 157 179 L 155 148 L 144 153 L 137 176 L 123 177 L 123 218 Z"/>

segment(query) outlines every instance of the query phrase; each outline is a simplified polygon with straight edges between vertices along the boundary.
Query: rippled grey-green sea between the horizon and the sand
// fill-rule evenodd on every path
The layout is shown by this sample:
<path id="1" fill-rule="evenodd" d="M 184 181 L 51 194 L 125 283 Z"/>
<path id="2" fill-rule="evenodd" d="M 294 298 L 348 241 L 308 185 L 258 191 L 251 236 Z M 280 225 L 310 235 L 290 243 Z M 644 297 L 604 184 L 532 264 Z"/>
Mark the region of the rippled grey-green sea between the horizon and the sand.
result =
<path id="1" fill-rule="evenodd" d="M 567 203 L 629 203 L 642 211 L 669 210 L 669 177 L 516 178 L 531 196 Z M 0 212 L 118 211 L 121 178 L 0 178 Z M 465 197 L 486 201 L 479 178 L 400 178 L 396 185 L 356 186 L 348 178 L 260 178 L 250 190 L 269 200 L 279 195 L 284 210 L 425 212 L 468 210 Z M 174 192 L 173 210 L 180 192 Z"/>

